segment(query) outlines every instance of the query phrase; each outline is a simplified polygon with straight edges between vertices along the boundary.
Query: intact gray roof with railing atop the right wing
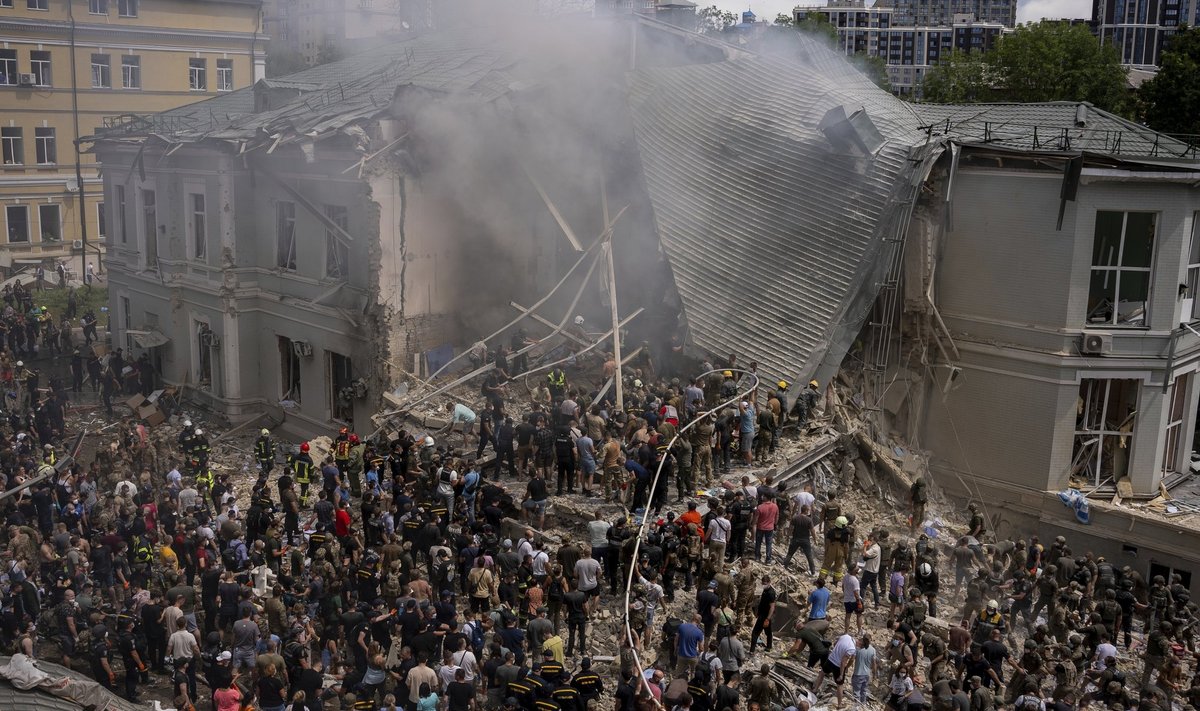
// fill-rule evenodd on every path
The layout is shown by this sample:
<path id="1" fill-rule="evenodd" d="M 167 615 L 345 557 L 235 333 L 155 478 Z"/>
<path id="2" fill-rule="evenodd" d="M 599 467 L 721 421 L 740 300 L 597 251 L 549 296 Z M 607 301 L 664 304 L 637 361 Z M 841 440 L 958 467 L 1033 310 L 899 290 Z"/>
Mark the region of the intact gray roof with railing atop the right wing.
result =
<path id="1" fill-rule="evenodd" d="M 1081 115 L 1080 107 L 1084 107 Z M 1084 150 L 1126 157 L 1195 157 L 1186 143 L 1076 101 L 914 103 L 912 108 L 923 121 L 934 125 L 936 132 L 965 144 L 1018 150 Z M 1076 115 L 1082 125 L 1076 125 Z"/>

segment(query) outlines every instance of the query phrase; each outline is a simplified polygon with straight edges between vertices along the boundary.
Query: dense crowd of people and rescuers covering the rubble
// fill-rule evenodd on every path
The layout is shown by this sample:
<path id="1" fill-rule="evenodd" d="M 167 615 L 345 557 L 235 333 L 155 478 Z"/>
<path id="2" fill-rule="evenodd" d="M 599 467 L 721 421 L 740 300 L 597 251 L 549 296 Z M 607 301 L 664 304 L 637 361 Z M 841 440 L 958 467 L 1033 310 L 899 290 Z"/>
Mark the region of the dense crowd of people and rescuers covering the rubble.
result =
<path id="1" fill-rule="evenodd" d="M 130 700 L 166 685 L 180 710 L 766 711 L 788 698 L 773 658 L 838 705 L 847 681 L 895 711 L 1200 705 L 1183 580 L 996 540 L 974 504 L 947 545 L 922 528 L 924 479 L 911 528 L 776 485 L 754 465 L 818 384 L 790 402 L 754 364 L 702 371 L 634 371 L 624 408 L 558 369 L 527 401 L 490 378 L 440 431 L 343 428 L 328 448 L 262 430 L 257 472 L 212 466 L 190 422 L 164 466 L 142 425 L 86 466 L 18 428 L 0 644 Z M 547 537 L 572 495 L 594 519 Z M 799 621 L 776 628 L 785 601 Z"/>

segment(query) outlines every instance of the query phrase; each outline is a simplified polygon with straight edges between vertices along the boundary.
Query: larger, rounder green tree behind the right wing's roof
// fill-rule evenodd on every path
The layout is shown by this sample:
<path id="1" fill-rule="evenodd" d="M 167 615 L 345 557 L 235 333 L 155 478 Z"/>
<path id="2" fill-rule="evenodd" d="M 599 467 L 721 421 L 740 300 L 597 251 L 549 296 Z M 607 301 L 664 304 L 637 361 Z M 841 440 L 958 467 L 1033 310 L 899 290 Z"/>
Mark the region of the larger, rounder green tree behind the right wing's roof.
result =
<path id="1" fill-rule="evenodd" d="M 1024 24 L 1002 36 L 984 59 L 1006 101 L 1090 101 L 1105 110 L 1127 109 L 1121 55 L 1085 25 Z"/>

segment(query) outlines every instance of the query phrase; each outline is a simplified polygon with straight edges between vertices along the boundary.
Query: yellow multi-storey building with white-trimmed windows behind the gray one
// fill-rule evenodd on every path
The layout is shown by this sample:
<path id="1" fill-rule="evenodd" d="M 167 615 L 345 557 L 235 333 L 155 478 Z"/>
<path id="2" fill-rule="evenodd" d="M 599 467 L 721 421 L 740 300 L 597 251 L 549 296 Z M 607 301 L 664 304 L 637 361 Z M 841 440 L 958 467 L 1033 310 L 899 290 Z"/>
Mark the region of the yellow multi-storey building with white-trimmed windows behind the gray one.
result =
<path id="1" fill-rule="evenodd" d="M 76 139 L 248 86 L 265 59 L 259 0 L 0 0 L 0 269 L 100 267 L 113 221 Z"/>

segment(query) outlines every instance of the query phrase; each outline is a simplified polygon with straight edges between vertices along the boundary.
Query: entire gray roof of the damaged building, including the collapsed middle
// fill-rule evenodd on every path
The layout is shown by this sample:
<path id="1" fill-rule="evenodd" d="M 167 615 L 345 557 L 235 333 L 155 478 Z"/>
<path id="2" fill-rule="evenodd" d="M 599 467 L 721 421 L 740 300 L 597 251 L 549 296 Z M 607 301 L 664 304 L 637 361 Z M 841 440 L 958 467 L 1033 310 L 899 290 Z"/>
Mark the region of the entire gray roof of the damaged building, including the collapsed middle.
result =
<path id="1" fill-rule="evenodd" d="M 601 25 L 574 22 L 571 32 Z M 623 89 L 685 345 L 697 357 L 745 353 L 772 380 L 824 381 L 836 370 L 946 144 L 1186 155 L 1186 145 L 1085 104 L 911 104 L 817 41 L 775 58 L 646 18 L 624 22 L 637 23 L 637 36 L 670 37 L 689 58 L 637 54 Z M 421 35 L 152 116 L 122 116 L 96 139 L 270 153 L 350 136 L 373 153 L 384 147 L 370 145 L 366 127 L 394 115 L 398 97 L 511 108 L 563 71 L 500 35 Z M 614 52 L 612 64 L 626 66 L 631 54 Z"/>

